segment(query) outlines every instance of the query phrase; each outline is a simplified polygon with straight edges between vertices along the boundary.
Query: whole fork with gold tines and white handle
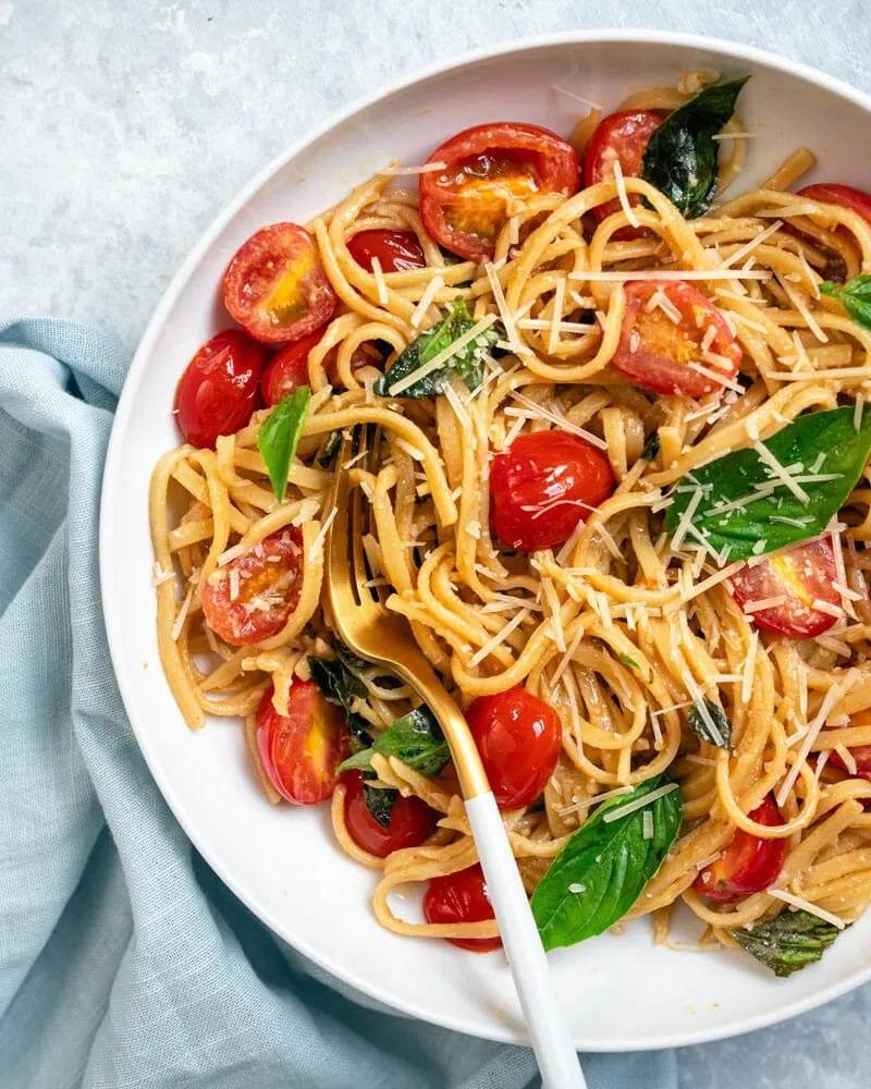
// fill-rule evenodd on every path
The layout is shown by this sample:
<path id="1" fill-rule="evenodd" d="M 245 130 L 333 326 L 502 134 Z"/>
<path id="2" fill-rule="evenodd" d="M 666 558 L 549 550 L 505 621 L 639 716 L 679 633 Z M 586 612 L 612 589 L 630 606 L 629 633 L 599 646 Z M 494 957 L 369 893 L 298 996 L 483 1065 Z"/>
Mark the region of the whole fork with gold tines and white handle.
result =
<path id="1" fill-rule="evenodd" d="M 548 960 L 529 908 L 517 864 L 468 724 L 417 646 L 404 616 L 389 611 L 380 591 L 367 586 L 363 538 L 367 531 L 360 489 L 344 467 L 361 426 L 343 436 L 336 460 L 327 537 L 324 590 L 330 621 L 340 639 L 366 661 L 409 685 L 436 715 L 456 768 L 475 846 L 487 881 L 529 1040 L 547 1089 L 586 1089 L 578 1056 L 551 987 Z M 375 441 L 363 467 L 370 467 Z"/>

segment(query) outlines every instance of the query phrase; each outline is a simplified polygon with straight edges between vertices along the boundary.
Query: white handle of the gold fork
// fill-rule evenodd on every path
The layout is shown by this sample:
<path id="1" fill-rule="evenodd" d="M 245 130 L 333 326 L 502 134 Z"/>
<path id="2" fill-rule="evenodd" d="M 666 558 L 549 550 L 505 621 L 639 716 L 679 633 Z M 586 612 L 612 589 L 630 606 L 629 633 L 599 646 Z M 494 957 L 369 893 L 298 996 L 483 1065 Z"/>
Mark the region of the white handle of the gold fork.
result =
<path id="1" fill-rule="evenodd" d="M 466 799 L 475 846 L 545 1089 L 587 1089 L 492 791 Z"/>

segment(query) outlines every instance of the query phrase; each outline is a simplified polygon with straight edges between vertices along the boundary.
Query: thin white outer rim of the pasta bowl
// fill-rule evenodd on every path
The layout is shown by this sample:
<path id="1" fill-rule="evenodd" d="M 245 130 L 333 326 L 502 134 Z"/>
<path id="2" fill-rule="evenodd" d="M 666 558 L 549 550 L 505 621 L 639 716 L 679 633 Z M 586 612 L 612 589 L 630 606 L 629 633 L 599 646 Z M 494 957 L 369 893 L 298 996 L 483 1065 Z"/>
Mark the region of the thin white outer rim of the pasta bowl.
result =
<path id="1" fill-rule="evenodd" d="M 102 614 L 106 624 L 110 659 L 119 690 L 121 693 L 122 702 L 125 711 L 127 712 L 127 718 L 133 729 L 139 750 L 145 758 L 152 779 L 157 783 L 160 793 L 163 795 L 167 805 L 172 810 L 174 818 L 184 830 L 185 835 L 187 835 L 188 840 L 191 840 L 192 844 L 203 855 L 204 859 L 219 876 L 221 881 L 223 881 L 233 894 L 237 896 L 243 904 L 245 904 L 256 918 L 269 927 L 270 930 L 272 930 L 272 932 L 282 941 L 286 941 L 297 952 L 308 957 L 311 962 L 314 962 L 314 964 L 318 965 L 319 968 L 328 972 L 330 976 L 353 988 L 361 995 L 366 995 L 383 1003 L 383 1005 L 388 1007 L 391 1013 L 397 1012 L 400 1014 L 422 1020 L 427 1024 L 437 1025 L 441 1028 L 451 1029 L 478 1039 L 513 1044 L 523 1043 L 523 1041 L 519 1041 L 517 1037 L 512 1035 L 508 1030 L 501 1030 L 499 1025 L 492 1025 L 487 1031 L 481 1031 L 480 1029 L 470 1031 L 468 1025 L 454 1019 L 450 1013 L 446 1013 L 443 1016 L 433 1017 L 429 1011 L 425 1011 L 419 1006 L 416 1007 L 414 1003 L 397 1005 L 395 999 L 379 984 L 360 980 L 354 975 L 353 970 L 346 969 L 343 965 L 335 965 L 329 962 L 319 950 L 310 947 L 306 941 L 296 938 L 286 938 L 286 930 L 281 920 L 277 918 L 275 914 L 271 910 L 265 909 L 262 905 L 257 904 L 255 902 L 255 897 L 246 891 L 244 884 L 238 882 L 234 874 L 223 866 L 218 857 L 216 857 L 211 847 L 208 844 L 200 843 L 199 837 L 192 833 L 194 820 L 187 812 L 184 796 L 179 795 L 173 790 L 171 782 L 167 775 L 164 775 L 160 758 L 149 741 L 148 731 L 144 727 L 140 729 L 137 725 L 134 715 L 132 715 L 127 710 L 128 706 L 134 702 L 132 697 L 133 684 L 132 681 L 128 680 L 130 665 L 124 661 L 121 653 L 123 632 L 115 624 L 115 613 L 109 607 L 107 594 L 111 578 L 111 567 L 114 563 L 112 556 L 115 554 L 114 526 L 113 518 L 109 513 L 111 510 L 111 503 L 109 500 L 118 487 L 123 438 L 127 430 L 130 417 L 134 407 L 134 388 L 138 386 L 140 376 L 146 367 L 146 362 L 149 358 L 155 342 L 165 323 L 167 317 L 176 299 L 182 294 L 185 285 L 191 279 L 191 276 L 211 248 L 220 233 L 224 230 L 228 223 L 230 223 L 233 217 L 248 204 L 252 197 L 267 182 L 269 182 L 280 170 L 286 167 L 287 163 L 290 163 L 294 158 L 303 154 L 308 147 L 321 137 L 326 136 L 338 125 L 383 100 L 404 93 L 415 85 L 422 84 L 436 76 L 464 69 L 480 61 L 498 59 L 511 53 L 531 52 L 535 50 L 549 49 L 559 46 L 590 45 L 596 42 L 603 45 L 619 42 L 631 45 L 662 45 L 674 46 L 679 49 L 697 49 L 699 51 L 709 50 L 722 52 L 737 61 L 745 61 L 749 64 L 757 63 L 777 70 L 787 75 L 796 76 L 803 82 L 813 84 L 817 87 L 831 91 L 854 102 L 871 114 L 871 95 L 867 95 L 863 91 L 858 90 L 856 87 L 852 87 L 850 84 L 845 83 L 835 76 L 831 76 L 827 73 L 805 63 L 803 61 L 792 60 L 790 58 L 783 57 L 766 49 L 761 49 L 757 46 L 746 45 L 744 42 L 733 41 L 728 38 L 645 28 L 564 30 L 560 33 L 511 38 L 493 46 L 468 50 L 461 53 L 458 57 L 433 62 L 414 71 L 409 75 L 404 76 L 398 82 L 382 85 L 375 91 L 360 95 L 353 99 L 347 106 L 330 113 L 319 124 L 306 130 L 299 138 L 292 142 L 279 155 L 273 157 L 261 170 L 259 170 L 214 217 L 193 248 L 188 252 L 185 259 L 182 261 L 181 266 L 167 285 L 160 301 L 151 314 L 150 319 L 148 320 L 145 331 L 142 334 L 134 353 L 127 374 L 124 378 L 124 384 L 119 397 L 109 443 L 107 446 L 106 463 L 100 490 L 98 529 L 100 599 L 102 603 Z M 128 693 L 131 694 L 130 703 L 127 700 Z M 746 1032 L 752 1032 L 758 1029 L 766 1028 L 814 1010 L 824 1003 L 831 1002 L 834 999 L 855 990 L 869 980 L 871 980 L 871 964 L 847 979 L 832 983 L 813 994 L 807 995 L 802 999 L 797 999 L 794 1002 L 776 1008 L 772 1008 L 766 1013 L 757 1014 L 746 1018 L 745 1020 L 738 1023 L 737 1027 L 735 1023 L 731 1023 L 722 1026 L 721 1028 L 717 1028 L 716 1026 L 709 1026 L 695 1031 L 683 1030 L 670 1033 L 660 1033 L 652 1040 L 646 1040 L 643 1048 L 646 1050 L 660 1051 L 667 1048 L 683 1048 L 743 1036 Z M 587 1041 L 584 1044 L 584 1050 L 589 1052 L 605 1050 L 608 1052 L 629 1052 L 638 1050 L 638 1044 L 634 1044 L 631 1040 L 626 1040 L 622 1041 L 618 1045 L 612 1043 L 608 1047 L 608 1049 L 603 1049 L 596 1047 L 594 1042 Z"/>

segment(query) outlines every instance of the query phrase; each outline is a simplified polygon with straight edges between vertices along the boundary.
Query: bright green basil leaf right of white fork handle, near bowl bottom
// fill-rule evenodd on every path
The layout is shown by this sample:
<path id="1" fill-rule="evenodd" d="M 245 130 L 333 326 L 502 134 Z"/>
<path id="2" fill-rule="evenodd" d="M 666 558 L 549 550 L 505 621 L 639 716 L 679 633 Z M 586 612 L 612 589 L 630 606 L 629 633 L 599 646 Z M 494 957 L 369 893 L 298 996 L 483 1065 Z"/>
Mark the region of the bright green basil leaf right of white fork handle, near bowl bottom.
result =
<path id="1" fill-rule="evenodd" d="M 609 811 L 671 784 L 667 775 L 612 798 L 574 833 L 532 893 L 532 915 L 545 950 L 574 945 L 601 934 L 629 910 L 660 868 L 677 837 L 680 792 L 657 796 L 648 806 L 606 821 Z M 646 840 L 645 812 L 653 815 Z"/>

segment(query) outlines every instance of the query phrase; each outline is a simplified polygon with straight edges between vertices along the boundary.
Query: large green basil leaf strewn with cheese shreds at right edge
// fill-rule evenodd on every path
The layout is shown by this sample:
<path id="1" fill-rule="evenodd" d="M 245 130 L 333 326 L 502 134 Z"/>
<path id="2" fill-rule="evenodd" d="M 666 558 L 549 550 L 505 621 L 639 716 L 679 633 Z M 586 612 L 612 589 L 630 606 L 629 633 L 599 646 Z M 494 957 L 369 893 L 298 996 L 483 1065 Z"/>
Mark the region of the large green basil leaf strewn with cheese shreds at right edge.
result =
<path id="1" fill-rule="evenodd" d="M 807 413 L 762 443 L 782 466 L 803 466 L 795 479 L 808 495 L 807 504 L 778 481 L 756 450 L 736 450 L 694 469 L 678 482 L 665 517 L 666 531 L 674 534 L 680 515 L 701 488 L 703 494 L 692 514 L 694 531 L 714 552 L 728 546 L 729 561 L 773 552 L 823 533 L 856 486 L 871 451 L 871 412 L 863 413 L 858 429 L 854 417 L 851 407 Z M 811 475 L 832 475 L 834 479 L 802 480 Z M 751 503 L 706 513 L 753 493 L 760 498 Z M 760 541 L 764 547 L 757 551 Z"/>

